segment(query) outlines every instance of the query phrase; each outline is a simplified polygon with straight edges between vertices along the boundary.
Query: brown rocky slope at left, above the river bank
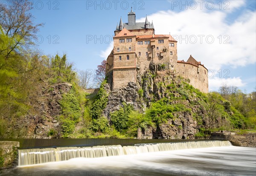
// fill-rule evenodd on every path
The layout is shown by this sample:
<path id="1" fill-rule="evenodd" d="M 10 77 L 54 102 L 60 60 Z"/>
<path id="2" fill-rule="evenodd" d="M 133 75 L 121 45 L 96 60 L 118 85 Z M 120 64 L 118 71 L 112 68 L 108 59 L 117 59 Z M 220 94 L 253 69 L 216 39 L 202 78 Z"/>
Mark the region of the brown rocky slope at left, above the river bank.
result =
<path id="1" fill-rule="evenodd" d="M 60 128 L 57 116 L 61 114 L 59 101 L 70 91 L 72 84 L 44 85 L 30 98 L 28 113 L 16 119 L 15 126 L 3 138 L 49 138 L 49 131 Z M 58 134 L 57 134 L 58 136 Z"/>

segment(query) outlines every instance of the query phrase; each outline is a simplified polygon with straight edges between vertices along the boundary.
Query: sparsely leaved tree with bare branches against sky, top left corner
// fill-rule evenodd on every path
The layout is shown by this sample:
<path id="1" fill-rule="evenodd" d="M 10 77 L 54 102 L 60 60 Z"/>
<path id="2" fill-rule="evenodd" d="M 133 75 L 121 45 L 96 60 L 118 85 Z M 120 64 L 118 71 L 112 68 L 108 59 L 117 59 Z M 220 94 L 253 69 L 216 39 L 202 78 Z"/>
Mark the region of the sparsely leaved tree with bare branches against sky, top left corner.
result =
<path id="1" fill-rule="evenodd" d="M 32 2 L 28 0 L 12 1 L 12 6 L 0 6 L 0 26 L 6 36 L 12 39 L 12 43 L 6 48 L 6 58 L 15 51 L 19 54 L 32 53 L 31 47 L 35 43 L 38 27 L 41 24 L 33 23 L 33 16 L 29 11 L 32 9 Z M 1 50 L 0 52 L 3 52 Z"/>

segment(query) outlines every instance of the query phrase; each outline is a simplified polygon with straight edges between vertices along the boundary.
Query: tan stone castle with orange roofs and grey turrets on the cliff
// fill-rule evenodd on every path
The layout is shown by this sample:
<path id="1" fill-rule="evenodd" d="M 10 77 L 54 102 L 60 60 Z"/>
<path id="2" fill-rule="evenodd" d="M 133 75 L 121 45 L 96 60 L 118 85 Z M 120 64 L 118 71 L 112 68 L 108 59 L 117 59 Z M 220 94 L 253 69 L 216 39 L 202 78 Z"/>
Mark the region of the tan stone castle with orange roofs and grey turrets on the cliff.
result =
<path id="1" fill-rule="evenodd" d="M 106 74 L 111 89 L 137 82 L 150 63 L 189 79 L 189 84 L 208 92 L 208 70 L 191 55 L 187 61 L 177 60 L 177 41 L 171 35 L 155 35 L 153 21 L 136 23 L 136 14 L 128 13 L 128 23 L 116 26 L 113 50 L 107 58 Z"/>

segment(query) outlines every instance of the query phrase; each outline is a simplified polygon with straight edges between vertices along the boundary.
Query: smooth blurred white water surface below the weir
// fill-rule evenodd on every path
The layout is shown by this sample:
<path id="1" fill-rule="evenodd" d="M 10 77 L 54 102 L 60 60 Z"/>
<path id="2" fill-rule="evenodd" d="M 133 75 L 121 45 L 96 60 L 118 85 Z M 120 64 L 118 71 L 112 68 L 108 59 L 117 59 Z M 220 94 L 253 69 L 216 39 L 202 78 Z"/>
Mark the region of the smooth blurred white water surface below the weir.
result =
<path id="1" fill-rule="evenodd" d="M 0 170 L 1 176 L 255 176 L 255 147 L 210 147 L 76 158 Z"/>

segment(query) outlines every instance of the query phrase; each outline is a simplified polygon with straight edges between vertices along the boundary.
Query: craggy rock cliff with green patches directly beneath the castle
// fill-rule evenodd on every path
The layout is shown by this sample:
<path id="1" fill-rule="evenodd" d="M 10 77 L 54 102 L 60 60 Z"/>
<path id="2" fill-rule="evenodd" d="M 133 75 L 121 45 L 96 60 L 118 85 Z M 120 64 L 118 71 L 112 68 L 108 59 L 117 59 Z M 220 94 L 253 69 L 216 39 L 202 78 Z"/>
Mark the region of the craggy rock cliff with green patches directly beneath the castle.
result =
<path id="1" fill-rule="evenodd" d="M 108 96 L 108 104 L 104 115 L 110 119 L 110 113 L 118 110 L 125 104 L 132 104 L 134 110 L 145 113 L 152 102 L 163 98 L 168 99 L 169 104 L 182 104 L 187 110 L 172 113 L 174 118 L 168 119 L 156 127 L 138 129 L 138 138 L 186 138 L 198 133 L 198 125 L 204 123 L 204 101 L 201 92 L 193 91 L 192 87 L 181 77 L 176 77 L 174 72 L 166 71 L 164 66 L 151 63 L 150 70 L 137 78 L 137 84 L 130 82 L 126 87 L 110 90 L 105 86 Z"/>

